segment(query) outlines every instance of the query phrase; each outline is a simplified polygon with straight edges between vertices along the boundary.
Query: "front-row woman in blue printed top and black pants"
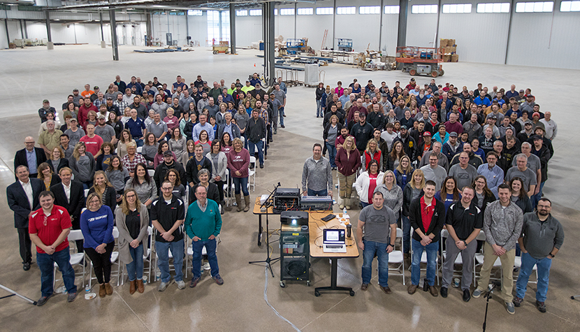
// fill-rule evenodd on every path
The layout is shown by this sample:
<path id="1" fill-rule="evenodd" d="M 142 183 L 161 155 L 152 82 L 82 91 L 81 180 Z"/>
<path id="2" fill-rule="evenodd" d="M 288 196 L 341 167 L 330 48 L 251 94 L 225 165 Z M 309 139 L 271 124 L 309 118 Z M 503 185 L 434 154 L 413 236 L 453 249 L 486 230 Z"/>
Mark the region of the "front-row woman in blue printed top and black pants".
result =
<path id="1" fill-rule="evenodd" d="M 91 259 L 96 280 L 101 285 L 99 296 L 113 295 L 110 285 L 111 253 L 115 247 L 113 237 L 113 211 L 101 203 L 95 192 L 87 198 L 87 210 L 80 215 L 80 229 L 85 238 L 85 253 Z"/>

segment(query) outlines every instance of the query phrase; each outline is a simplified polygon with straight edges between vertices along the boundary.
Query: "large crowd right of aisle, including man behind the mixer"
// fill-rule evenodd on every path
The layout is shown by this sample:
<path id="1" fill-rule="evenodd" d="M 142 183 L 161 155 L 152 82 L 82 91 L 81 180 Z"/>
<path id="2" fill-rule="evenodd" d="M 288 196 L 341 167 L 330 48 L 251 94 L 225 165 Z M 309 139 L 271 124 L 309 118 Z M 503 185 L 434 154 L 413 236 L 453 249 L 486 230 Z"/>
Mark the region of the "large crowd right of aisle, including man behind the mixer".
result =
<path id="1" fill-rule="evenodd" d="M 326 195 L 333 170 L 338 171 L 340 209 L 353 207 L 351 192 L 356 189 L 362 208 L 357 234 L 364 261 L 361 289 L 368 289 L 370 264 L 377 256 L 379 285 L 391 293 L 385 262 L 395 244 L 393 220 L 398 220 L 411 265 L 409 294 L 419 286 L 423 252 L 423 289 L 443 297 L 456 257 L 462 255 L 466 302 L 486 290 L 499 257 L 507 312 L 514 314 L 514 307 L 521 305 L 535 264 L 536 305 L 546 311 L 550 262 L 563 243 L 562 227 L 542 195 L 558 127 L 549 111 L 540 110 L 530 89 L 517 91 L 512 85 L 507 91 L 489 90 L 479 84 L 474 90 L 460 90 L 449 83 L 436 85 L 435 79 L 421 87 L 414 78 L 405 87 L 398 81 L 393 87 L 386 82 L 375 87 L 372 80 L 363 87 L 355 79 L 348 87 L 340 81 L 335 88 L 320 83 L 316 101 L 316 115 L 324 119 L 326 149 L 314 145 L 314 156 L 304 165 L 303 191 Z M 330 160 L 321 157 L 326 151 Z M 539 236 L 546 227 L 551 227 L 549 234 Z M 447 230 L 445 240 L 442 229 Z M 484 259 L 477 289 L 470 294 L 480 231 L 485 235 Z M 534 250 L 524 249 L 530 246 Z M 437 291 L 441 247 L 447 257 Z M 516 255 L 521 256 L 521 267 L 514 269 Z M 512 296 L 516 269 L 517 294 Z"/>

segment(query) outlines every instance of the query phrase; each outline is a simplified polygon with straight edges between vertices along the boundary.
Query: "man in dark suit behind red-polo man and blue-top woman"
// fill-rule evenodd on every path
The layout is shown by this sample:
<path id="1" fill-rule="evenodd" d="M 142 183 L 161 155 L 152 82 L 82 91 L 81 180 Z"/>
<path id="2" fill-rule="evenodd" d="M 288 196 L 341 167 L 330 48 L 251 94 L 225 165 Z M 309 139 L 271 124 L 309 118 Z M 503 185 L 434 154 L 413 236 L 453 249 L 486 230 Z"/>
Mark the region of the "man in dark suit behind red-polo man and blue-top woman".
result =
<path id="1" fill-rule="evenodd" d="M 66 208 L 68 215 L 71 215 L 73 229 L 80 229 L 80 212 L 85 207 L 85 190 L 82 183 L 72 181 L 73 170 L 63 167 L 59 171 L 61 183 L 50 187 L 52 194 L 55 194 L 55 205 Z M 77 240 L 78 252 L 83 251 L 82 240 Z"/>

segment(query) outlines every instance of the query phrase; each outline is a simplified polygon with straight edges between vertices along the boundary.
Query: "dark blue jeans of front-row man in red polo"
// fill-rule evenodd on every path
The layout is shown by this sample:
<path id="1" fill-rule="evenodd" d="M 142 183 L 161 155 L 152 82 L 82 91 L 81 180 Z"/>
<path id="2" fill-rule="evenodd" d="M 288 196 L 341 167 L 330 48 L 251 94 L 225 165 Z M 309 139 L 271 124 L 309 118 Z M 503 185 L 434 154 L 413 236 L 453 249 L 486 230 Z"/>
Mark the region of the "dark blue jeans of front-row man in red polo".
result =
<path id="1" fill-rule="evenodd" d="M 71 254 L 68 252 L 68 247 L 64 248 L 59 252 L 54 252 L 53 254 L 41 254 L 36 253 L 36 264 L 41 270 L 41 292 L 42 296 L 50 296 L 52 294 L 52 282 L 54 278 L 54 266 L 55 263 L 59 266 L 62 272 L 62 280 L 64 281 L 64 287 L 66 291 L 71 293 L 77 292 L 77 287 L 75 285 L 75 270 L 70 263 Z"/>

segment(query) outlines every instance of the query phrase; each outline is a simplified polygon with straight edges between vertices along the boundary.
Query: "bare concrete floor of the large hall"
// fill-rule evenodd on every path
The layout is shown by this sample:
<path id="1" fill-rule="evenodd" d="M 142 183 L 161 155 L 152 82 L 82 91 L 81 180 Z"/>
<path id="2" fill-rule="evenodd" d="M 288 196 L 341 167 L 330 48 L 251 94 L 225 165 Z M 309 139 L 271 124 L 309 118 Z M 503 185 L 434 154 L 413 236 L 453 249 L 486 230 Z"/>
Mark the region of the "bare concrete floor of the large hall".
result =
<path id="1" fill-rule="evenodd" d="M 55 50 L 29 48 L 27 50 L 2 50 L 0 59 L 0 183 L 6 187 L 14 181 L 13 157 L 22 148 L 24 137 L 36 133 L 39 124 L 36 110 L 43 99 L 50 99 L 53 106 L 60 106 L 74 87 L 82 89 L 85 83 L 106 87 L 119 73 L 129 81 L 131 75 L 149 80 L 154 75 L 161 82 L 174 82 L 182 75 L 187 82 L 200 73 L 211 82 L 224 78 L 245 80 L 248 74 L 261 69 L 261 59 L 255 50 L 240 50 L 240 55 L 211 55 L 205 48 L 194 52 L 170 54 L 138 54 L 133 48 L 119 48 L 119 62 L 111 61 L 110 48 L 102 50 L 96 45 L 57 46 Z M 256 65 L 254 67 L 254 64 Z M 492 87 L 517 89 L 530 87 L 542 110 L 551 110 L 558 122 L 558 138 L 554 141 L 556 156 L 549 165 L 549 178 L 544 187 L 547 197 L 553 201 L 553 215 L 565 227 L 565 244 L 554 259 L 551 284 L 546 305 L 548 312 L 540 314 L 533 305 L 534 294 L 526 295 L 524 305 L 511 316 L 505 312 L 500 301 L 490 301 L 488 331 L 579 331 L 580 304 L 570 300 L 570 295 L 580 294 L 577 284 L 580 264 L 575 256 L 580 245 L 572 239 L 580 235 L 580 196 L 575 188 L 580 185 L 574 173 L 580 170 L 578 150 L 570 145 L 576 132 L 572 118 L 573 94 L 555 94 L 563 89 L 577 91 L 580 83 L 574 78 L 579 71 L 523 66 L 498 66 L 490 64 L 444 64 L 446 75 L 438 82 L 467 85 L 472 89 L 478 82 Z M 366 72 L 351 66 L 331 65 L 326 71 L 325 84 L 335 86 L 337 80 L 347 85 L 352 78 L 359 82 L 372 79 L 375 84 L 386 81 L 388 85 L 400 80 L 406 85 L 409 76 L 399 71 Z M 300 77 L 300 80 L 303 78 Z M 420 84 L 428 78 L 418 78 Z M 314 90 L 291 87 L 288 93 L 286 125 L 270 145 L 266 168 L 259 169 L 256 178 L 256 195 L 271 190 L 281 182 L 283 187 L 300 185 L 300 175 L 305 158 L 311 155 L 312 144 L 321 140 L 321 120 L 313 117 L 315 109 Z M 32 125 L 31 125 L 32 124 Z M 38 299 L 40 296 L 40 273 L 33 265 L 24 272 L 17 250 L 17 236 L 13 229 L 12 212 L 8 209 L 4 192 L 0 194 L 0 284 L 19 291 L 22 295 Z M 336 208 L 338 210 L 338 207 Z M 351 212 L 353 219 L 358 210 Z M 114 287 L 113 296 L 87 301 L 78 298 L 66 303 L 62 295 L 51 298 L 43 308 L 33 307 L 18 298 L 1 300 L 0 324 L 2 330 L 17 331 L 26 326 L 29 331 L 66 326 L 67 330 L 94 331 L 99 329 L 124 331 L 159 331 L 180 329 L 201 331 L 292 331 L 289 324 L 279 319 L 263 300 L 264 268 L 247 264 L 247 261 L 264 259 L 265 245 L 257 247 L 257 217 L 251 212 L 226 212 L 222 227 L 222 244 L 219 246 L 219 265 L 225 284 L 219 287 L 208 274 L 195 289 L 177 290 L 175 284 L 159 293 L 157 284 L 147 285 L 145 294 L 129 295 L 128 285 Z M 270 219 L 277 228 L 276 217 Z M 277 246 L 274 246 L 277 249 Z M 273 254 L 277 257 L 277 254 Z M 36 261 L 36 259 L 33 259 Z M 386 296 L 377 287 L 374 274 L 372 285 L 366 292 L 361 284 L 362 257 L 340 261 L 338 284 L 354 287 L 356 296 L 347 294 L 323 294 L 314 296 L 313 287 L 330 282 L 330 265 L 324 259 L 312 260 L 312 287 L 301 283 L 287 284 L 282 289 L 278 280 L 268 278 L 268 300 L 280 315 L 289 319 L 303 331 L 331 331 L 352 329 L 409 329 L 412 331 L 477 331 L 483 322 L 485 301 L 472 299 L 461 301 L 461 292 L 450 289 L 447 299 L 418 291 L 409 296 L 400 277 L 391 277 L 393 294 Z M 280 265 L 275 264 L 275 275 L 280 277 Z M 407 282 L 410 274 L 407 272 Z M 116 282 L 114 279 L 113 282 Z M 77 281 L 80 284 L 80 280 Z M 57 287 L 59 284 L 57 284 Z M 82 288 L 80 287 L 81 293 Z M 0 291 L 0 296 L 6 295 Z M 67 319 L 55 319 L 63 317 Z M 34 317 L 36 319 L 29 319 Z M 73 318 L 74 317 L 74 318 Z"/>

